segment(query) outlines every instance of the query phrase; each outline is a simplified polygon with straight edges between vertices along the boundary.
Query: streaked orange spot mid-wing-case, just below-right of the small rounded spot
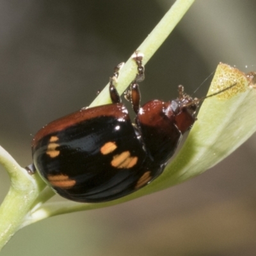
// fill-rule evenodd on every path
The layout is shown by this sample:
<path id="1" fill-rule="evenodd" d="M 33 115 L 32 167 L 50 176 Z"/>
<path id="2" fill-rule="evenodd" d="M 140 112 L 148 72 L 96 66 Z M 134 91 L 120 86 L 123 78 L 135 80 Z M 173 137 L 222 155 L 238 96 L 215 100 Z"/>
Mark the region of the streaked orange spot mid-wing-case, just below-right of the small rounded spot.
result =
<path id="1" fill-rule="evenodd" d="M 131 156 L 129 151 L 115 155 L 111 161 L 111 165 L 116 168 L 132 168 L 138 161 L 138 157 Z"/>

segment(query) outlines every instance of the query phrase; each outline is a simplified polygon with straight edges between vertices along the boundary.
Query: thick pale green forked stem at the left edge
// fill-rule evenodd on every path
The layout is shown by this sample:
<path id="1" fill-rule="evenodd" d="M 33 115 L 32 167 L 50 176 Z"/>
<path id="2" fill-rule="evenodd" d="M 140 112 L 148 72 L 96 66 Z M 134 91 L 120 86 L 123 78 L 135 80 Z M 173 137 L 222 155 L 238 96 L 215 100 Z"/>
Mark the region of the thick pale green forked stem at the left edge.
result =
<path id="1" fill-rule="evenodd" d="M 0 147 L 0 163 L 7 170 L 11 186 L 0 207 L 0 250 L 19 230 L 29 207 L 45 184 L 19 166 L 4 148 Z M 35 177 L 34 177 L 35 176 Z"/>

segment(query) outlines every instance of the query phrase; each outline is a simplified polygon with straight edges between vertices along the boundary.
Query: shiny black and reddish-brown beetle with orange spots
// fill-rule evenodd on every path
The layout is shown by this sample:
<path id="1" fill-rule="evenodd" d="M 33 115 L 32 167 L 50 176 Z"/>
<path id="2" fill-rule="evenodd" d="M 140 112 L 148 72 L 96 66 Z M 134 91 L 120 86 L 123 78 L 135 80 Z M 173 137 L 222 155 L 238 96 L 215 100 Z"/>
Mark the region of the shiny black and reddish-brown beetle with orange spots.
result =
<path id="1" fill-rule="evenodd" d="M 110 79 L 112 104 L 81 109 L 51 122 L 33 138 L 33 164 L 59 195 L 77 202 L 106 202 L 129 195 L 163 172 L 182 134 L 195 122 L 198 100 L 179 86 L 179 97 L 140 106 L 138 82 L 143 55 L 135 52 L 138 74 L 126 97 L 136 113 L 132 124 Z"/>

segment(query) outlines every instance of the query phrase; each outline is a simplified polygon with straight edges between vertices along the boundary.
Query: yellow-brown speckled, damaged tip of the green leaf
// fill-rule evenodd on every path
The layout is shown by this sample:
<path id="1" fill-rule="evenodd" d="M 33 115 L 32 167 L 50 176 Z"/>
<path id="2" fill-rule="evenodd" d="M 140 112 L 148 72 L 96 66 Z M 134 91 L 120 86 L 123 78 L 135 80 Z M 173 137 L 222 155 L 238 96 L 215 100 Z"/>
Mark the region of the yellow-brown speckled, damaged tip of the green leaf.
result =
<path id="1" fill-rule="evenodd" d="M 232 88 L 216 95 L 218 99 L 230 99 L 238 93 L 245 92 L 250 81 L 246 75 L 237 68 L 230 67 L 227 64 L 220 63 L 216 69 L 211 83 L 210 94 L 220 92 L 232 84 L 236 84 Z"/>

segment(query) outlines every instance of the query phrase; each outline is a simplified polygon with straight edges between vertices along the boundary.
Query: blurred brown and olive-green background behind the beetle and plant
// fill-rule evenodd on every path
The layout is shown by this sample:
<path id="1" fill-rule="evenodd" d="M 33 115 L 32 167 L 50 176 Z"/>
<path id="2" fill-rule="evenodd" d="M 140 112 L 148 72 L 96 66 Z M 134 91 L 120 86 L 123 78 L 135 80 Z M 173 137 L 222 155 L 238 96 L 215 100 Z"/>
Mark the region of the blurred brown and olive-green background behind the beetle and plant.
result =
<path id="1" fill-rule="evenodd" d="M 31 163 L 33 134 L 88 106 L 172 3 L 2 0 L 0 144 L 22 166 Z M 193 93 L 220 61 L 256 70 L 255 8 L 254 0 L 197 0 L 148 62 L 142 103 L 177 97 L 178 84 Z M 253 136 L 184 184 L 23 228 L 1 255 L 256 255 L 255 148 Z M 9 187 L 3 168 L 0 182 L 1 201 Z"/>

